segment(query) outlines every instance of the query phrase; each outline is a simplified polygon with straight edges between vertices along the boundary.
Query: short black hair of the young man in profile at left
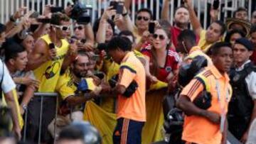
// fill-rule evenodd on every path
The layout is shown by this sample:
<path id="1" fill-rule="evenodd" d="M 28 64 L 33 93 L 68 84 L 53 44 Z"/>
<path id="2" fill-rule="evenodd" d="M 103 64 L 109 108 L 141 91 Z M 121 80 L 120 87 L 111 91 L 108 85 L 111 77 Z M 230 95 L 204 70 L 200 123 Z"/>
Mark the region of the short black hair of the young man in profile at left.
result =
<path id="1" fill-rule="evenodd" d="M 9 41 L 8 43 L 5 43 L 3 45 L 4 48 L 4 55 L 5 55 L 5 62 L 8 62 L 10 59 L 15 59 L 18 57 L 18 53 L 26 51 L 25 48 L 23 48 L 22 45 L 19 45 L 18 43 L 14 41 Z"/>

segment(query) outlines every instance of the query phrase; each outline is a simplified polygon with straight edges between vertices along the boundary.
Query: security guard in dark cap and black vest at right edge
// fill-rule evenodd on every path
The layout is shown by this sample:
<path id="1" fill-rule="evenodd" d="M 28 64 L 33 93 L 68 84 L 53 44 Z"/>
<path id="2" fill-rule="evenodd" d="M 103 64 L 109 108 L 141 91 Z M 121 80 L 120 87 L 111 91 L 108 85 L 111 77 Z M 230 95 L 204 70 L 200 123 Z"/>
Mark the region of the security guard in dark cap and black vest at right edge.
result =
<path id="1" fill-rule="evenodd" d="M 245 143 L 250 123 L 256 117 L 256 67 L 249 60 L 253 46 L 247 38 L 235 41 L 235 67 L 230 71 L 233 96 L 228 108 L 228 128 L 238 140 Z"/>

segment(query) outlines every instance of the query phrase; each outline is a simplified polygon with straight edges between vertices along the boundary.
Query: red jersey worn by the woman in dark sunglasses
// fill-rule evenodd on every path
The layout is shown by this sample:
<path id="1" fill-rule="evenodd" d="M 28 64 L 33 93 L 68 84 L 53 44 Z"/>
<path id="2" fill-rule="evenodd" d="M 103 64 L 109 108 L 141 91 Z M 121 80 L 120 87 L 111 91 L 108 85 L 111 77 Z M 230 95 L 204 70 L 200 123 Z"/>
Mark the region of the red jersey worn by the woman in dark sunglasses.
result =
<path id="1" fill-rule="evenodd" d="M 152 67 L 152 54 L 151 54 L 151 45 L 147 45 L 145 48 L 142 48 L 142 54 L 146 55 L 150 58 L 149 66 Z M 156 74 L 156 78 L 159 79 L 162 82 L 167 82 L 166 77 L 170 74 L 170 72 L 173 72 L 174 70 L 178 69 L 178 60 L 179 56 L 178 53 L 172 49 L 169 48 L 166 52 L 166 62 L 164 67 L 159 67 L 158 74 Z"/>

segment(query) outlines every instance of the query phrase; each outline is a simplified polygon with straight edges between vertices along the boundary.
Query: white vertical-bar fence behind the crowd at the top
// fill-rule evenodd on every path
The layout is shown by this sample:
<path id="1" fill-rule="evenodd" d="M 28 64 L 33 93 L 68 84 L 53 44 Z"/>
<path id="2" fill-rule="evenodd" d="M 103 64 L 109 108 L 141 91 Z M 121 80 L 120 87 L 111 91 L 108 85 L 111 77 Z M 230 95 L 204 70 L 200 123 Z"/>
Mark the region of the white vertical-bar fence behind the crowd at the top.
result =
<path id="1" fill-rule="evenodd" d="M 53 4 L 55 6 L 67 6 L 68 1 L 71 0 L 0 0 L 0 22 L 6 23 L 9 21 L 9 16 L 11 16 L 14 11 L 16 11 L 21 6 L 28 7 L 28 11 L 36 10 L 43 11 L 44 6 L 47 4 Z M 83 3 L 87 4 L 92 8 L 92 22 L 95 21 L 96 18 L 100 18 L 102 9 L 106 9 L 108 6 L 108 1 L 110 0 L 80 0 Z M 181 5 L 181 1 L 183 0 L 171 0 L 171 11 L 170 11 L 170 19 L 171 23 L 174 20 L 174 9 L 177 6 Z M 203 13 L 203 18 L 201 15 L 198 15 L 199 20 L 203 19 L 203 27 L 207 27 L 207 19 L 209 16 L 208 4 L 211 0 L 193 0 L 193 5 L 196 7 L 198 13 Z M 135 21 L 135 15 L 137 9 L 142 7 L 149 8 L 151 11 L 155 11 L 156 20 L 160 18 L 160 9 L 164 0 L 132 0 L 132 21 Z M 175 4 L 174 4 L 175 3 Z M 247 5 L 248 8 L 248 16 L 251 17 L 252 12 L 252 0 L 225 0 L 223 6 L 221 6 L 220 11 L 224 14 L 224 18 L 227 18 L 228 11 L 235 11 L 238 6 L 245 7 Z M 228 6 L 228 3 L 231 6 Z M 220 16 L 219 16 L 220 18 Z"/>

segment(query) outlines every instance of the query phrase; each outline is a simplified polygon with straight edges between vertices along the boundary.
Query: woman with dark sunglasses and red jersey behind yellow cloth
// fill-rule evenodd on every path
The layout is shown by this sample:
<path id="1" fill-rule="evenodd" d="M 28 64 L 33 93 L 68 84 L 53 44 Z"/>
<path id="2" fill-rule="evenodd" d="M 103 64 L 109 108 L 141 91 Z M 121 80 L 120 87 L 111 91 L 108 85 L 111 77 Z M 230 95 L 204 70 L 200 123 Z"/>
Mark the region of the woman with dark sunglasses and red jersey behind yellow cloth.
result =
<path id="1" fill-rule="evenodd" d="M 170 47 L 169 27 L 161 27 L 154 32 L 151 44 L 142 48 L 146 58 L 147 75 L 146 123 L 142 138 L 150 137 L 145 139 L 144 143 L 162 139 L 161 127 L 164 123 L 162 101 L 167 94 L 168 83 L 176 77 L 179 62 L 178 53 Z"/>

